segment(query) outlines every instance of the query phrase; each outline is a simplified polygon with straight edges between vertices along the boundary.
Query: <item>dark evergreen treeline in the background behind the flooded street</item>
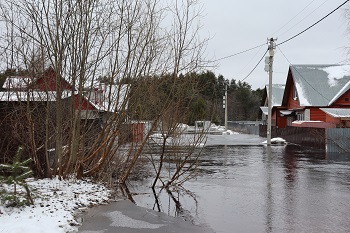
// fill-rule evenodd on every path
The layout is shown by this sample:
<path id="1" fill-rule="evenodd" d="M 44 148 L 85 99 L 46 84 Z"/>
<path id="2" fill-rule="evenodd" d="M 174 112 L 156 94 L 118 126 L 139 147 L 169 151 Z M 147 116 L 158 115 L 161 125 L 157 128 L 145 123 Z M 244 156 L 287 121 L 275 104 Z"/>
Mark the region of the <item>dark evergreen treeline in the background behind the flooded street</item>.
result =
<path id="1" fill-rule="evenodd" d="M 246 82 L 227 80 L 211 71 L 178 77 L 153 76 L 134 83 L 129 103 L 131 119 L 154 119 L 161 111 L 162 102 L 171 99 L 173 108 L 182 114 L 186 124 L 193 125 L 196 120 L 223 124 L 226 85 L 228 120 L 257 120 L 263 90 L 252 90 Z"/>

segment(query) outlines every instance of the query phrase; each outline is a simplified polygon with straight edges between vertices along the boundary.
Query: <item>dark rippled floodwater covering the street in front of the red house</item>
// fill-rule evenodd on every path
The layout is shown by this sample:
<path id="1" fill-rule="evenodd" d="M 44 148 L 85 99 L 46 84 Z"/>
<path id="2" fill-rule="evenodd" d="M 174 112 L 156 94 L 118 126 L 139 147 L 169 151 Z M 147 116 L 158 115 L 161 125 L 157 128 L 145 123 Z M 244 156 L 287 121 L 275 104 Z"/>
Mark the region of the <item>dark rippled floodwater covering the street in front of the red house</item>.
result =
<path id="1" fill-rule="evenodd" d="M 129 187 L 139 206 L 217 233 L 350 232 L 350 155 L 295 145 L 209 145 L 183 188 Z"/>

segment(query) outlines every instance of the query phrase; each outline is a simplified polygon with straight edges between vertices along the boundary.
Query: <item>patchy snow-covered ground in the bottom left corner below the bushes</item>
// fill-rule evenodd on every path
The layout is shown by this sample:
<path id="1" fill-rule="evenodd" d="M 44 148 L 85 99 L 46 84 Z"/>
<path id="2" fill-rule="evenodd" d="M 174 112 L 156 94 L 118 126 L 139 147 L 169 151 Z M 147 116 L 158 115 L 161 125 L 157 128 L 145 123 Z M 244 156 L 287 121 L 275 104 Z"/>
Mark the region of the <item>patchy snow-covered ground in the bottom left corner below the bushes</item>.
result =
<path id="1" fill-rule="evenodd" d="M 106 203 L 110 191 L 91 181 L 29 179 L 34 206 L 5 208 L 0 205 L 0 233 L 78 232 L 75 214 L 87 207 Z M 0 188 L 10 188 L 0 184 Z"/>

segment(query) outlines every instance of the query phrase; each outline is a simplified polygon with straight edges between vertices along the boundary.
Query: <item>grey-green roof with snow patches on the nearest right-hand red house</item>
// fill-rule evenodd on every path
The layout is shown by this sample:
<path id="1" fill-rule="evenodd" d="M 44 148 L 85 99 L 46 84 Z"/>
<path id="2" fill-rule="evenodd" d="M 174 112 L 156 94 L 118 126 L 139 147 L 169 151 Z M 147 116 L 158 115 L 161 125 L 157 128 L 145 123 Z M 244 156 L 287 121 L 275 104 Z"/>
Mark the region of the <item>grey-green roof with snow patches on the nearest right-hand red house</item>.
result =
<path id="1" fill-rule="evenodd" d="M 329 106 L 350 88 L 350 65 L 292 65 L 300 106 Z"/>

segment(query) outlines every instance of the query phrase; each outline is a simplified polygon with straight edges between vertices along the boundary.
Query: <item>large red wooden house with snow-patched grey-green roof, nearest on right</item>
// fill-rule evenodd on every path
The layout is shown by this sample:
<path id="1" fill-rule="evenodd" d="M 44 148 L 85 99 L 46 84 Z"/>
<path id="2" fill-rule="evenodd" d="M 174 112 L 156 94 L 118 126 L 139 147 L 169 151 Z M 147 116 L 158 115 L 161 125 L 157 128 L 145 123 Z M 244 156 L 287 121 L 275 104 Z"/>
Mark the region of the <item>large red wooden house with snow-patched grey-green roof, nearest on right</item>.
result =
<path id="1" fill-rule="evenodd" d="M 291 65 L 276 126 L 349 127 L 349 65 Z"/>

